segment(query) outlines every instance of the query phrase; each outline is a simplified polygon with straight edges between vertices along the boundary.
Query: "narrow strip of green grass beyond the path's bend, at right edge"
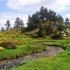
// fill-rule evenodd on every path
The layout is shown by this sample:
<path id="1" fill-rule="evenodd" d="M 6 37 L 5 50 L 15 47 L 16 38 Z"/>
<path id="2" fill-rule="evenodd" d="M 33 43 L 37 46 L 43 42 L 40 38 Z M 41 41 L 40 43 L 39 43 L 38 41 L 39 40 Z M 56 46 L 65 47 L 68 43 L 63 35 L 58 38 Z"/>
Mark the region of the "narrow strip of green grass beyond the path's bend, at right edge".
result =
<path id="1" fill-rule="evenodd" d="M 59 46 L 65 50 L 70 50 L 70 40 L 49 40 L 43 42 L 45 45 Z"/>

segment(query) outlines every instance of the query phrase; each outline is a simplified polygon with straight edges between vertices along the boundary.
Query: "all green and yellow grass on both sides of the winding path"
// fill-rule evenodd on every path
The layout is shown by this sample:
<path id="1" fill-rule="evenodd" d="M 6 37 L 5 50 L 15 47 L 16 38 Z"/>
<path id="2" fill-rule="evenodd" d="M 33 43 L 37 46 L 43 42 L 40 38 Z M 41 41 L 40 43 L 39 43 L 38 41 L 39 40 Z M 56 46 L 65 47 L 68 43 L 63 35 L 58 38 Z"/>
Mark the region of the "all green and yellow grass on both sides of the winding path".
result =
<path id="1" fill-rule="evenodd" d="M 9 37 L 9 38 L 8 38 Z M 29 38 L 20 34 L 18 30 L 10 30 L 0 33 L 0 42 L 12 41 L 17 43 L 17 49 L 6 49 L 0 52 L 0 60 L 15 59 L 26 54 L 35 53 L 45 47 L 33 45 L 42 42 L 45 45 L 52 45 L 64 48 L 64 52 L 55 57 L 41 58 L 28 63 L 22 63 L 13 70 L 70 70 L 70 40 L 47 40 L 44 38 Z"/>

